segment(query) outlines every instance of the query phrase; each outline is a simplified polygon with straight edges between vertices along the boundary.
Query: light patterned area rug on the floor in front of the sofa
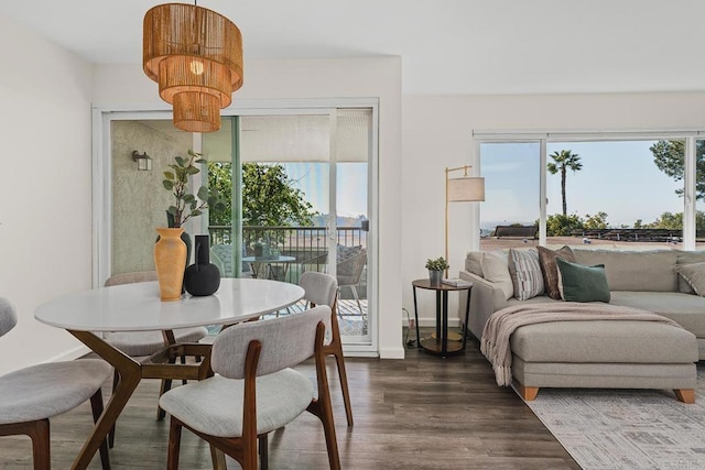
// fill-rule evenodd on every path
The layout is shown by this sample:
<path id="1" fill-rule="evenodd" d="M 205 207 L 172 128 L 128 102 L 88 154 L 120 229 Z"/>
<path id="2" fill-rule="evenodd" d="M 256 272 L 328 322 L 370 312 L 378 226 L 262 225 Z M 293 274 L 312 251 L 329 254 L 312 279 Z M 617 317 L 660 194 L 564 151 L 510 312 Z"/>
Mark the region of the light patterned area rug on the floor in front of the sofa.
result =
<path id="1" fill-rule="evenodd" d="M 705 363 L 695 404 L 671 391 L 541 389 L 525 402 L 584 469 L 705 469 Z"/>

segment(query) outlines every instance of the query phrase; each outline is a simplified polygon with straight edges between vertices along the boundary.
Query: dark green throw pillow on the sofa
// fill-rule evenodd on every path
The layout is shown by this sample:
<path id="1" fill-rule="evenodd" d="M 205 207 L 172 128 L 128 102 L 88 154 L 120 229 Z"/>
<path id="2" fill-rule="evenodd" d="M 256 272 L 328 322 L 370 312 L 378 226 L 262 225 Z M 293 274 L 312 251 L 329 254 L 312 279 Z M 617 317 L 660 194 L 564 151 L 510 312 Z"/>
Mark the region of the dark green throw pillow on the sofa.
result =
<path id="1" fill-rule="evenodd" d="M 561 297 L 566 302 L 609 302 L 605 265 L 585 266 L 556 258 Z"/>

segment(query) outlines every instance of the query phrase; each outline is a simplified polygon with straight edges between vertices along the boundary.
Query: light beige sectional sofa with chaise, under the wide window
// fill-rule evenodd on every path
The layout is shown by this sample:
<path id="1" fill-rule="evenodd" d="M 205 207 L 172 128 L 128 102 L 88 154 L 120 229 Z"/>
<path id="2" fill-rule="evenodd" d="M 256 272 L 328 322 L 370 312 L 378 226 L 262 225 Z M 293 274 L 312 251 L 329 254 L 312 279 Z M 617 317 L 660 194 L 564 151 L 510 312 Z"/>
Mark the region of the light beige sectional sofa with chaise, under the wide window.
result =
<path id="1" fill-rule="evenodd" d="M 510 345 L 511 373 L 524 398 L 533 400 L 540 387 L 549 386 L 672 389 L 679 400 L 694 400 L 695 362 L 705 359 L 705 252 L 522 250 L 539 250 L 554 261 L 570 259 L 577 265 L 604 265 L 609 304 L 653 311 L 682 327 L 631 320 L 522 326 L 512 334 Z M 531 286 L 536 281 L 531 273 L 523 273 L 522 281 L 522 273 L 512 272 L 520 266 L 514 263 L 510 270 L 511 261 L 521 259 L 520 253 L 513 254 L 470 252 L 459 272 L 459 277 L 473 282 L 467 328 L 478 339 L 495 311 L 564 302 L 546 295 L 551 280 L 545 272 L 533 274 L 543 274 L 543 291 Z M 465 302 L 462 298 L 459 305 Z"/>

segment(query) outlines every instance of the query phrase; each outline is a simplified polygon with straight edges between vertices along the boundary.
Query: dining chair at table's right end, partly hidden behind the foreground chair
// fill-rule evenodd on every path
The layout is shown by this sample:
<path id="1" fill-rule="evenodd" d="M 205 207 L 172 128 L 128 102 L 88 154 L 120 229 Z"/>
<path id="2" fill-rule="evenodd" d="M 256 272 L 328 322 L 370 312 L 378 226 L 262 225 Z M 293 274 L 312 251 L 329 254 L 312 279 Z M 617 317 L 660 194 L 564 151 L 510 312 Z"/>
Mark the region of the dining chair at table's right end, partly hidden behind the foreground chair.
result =
<path id="1" fill-rule="evenodd" d="M 348 390 L 348 378 L 345 370 L 345 357 L 343 356 L 343 341 L 340 340 L 340 328 L 338 325 L 338 282 L 335 276 L 315 271 L 306 271 L 299 278 L 299 285 L 305 291 L 304 299 L 310 306 L 327 305 L 330 307 L 330 339 L 326 341 L 323 350 L 326 356 L 334 356 L 338 367 L 338 378 L 343 401 L 345 403 L 345 415 L 348 426 L 352 426 L 352 406 L 350 405 L 350 392 Z"/>

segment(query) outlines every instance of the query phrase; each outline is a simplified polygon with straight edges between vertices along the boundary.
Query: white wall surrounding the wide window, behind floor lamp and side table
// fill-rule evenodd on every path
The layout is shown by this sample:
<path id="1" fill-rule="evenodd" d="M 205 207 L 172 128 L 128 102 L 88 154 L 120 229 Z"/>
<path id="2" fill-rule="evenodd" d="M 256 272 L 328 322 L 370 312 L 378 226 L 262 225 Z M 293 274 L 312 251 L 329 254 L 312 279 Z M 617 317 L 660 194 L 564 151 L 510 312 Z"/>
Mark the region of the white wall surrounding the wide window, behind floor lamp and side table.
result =
<path id="1" fill-rule="evenodd" d="M 673 94 L 406 96 L 402 129 L 403 305 L 413 315 L 411 282 L 426 277 L 424 263 L 444 250 L 444 168 L 477 165 L 473 130 L 620 130 L 705 127 L 705 91 Z M 473 206 L 451 205 L 451 275 L 473 249 Z M 457 296 L 449 315 L 457 321 Z M 431 295 L 419 293 L 420 317 L 433 325 Z M 471 315 L 471 313 L 470 313 Z M 424 321 L 420 321 L 422 325 Z"/>

